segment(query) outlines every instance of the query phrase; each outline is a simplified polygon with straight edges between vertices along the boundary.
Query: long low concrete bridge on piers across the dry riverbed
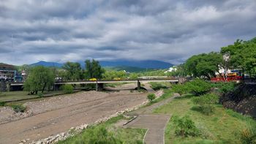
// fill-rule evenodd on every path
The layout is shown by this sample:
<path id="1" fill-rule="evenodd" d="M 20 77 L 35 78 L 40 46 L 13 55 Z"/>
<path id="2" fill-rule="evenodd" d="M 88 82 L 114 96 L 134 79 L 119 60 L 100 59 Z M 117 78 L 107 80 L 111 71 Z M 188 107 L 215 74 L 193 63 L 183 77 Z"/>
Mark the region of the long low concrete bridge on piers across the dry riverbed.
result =
<path id="1" fill-rule="evenodd" d="M 102 91 L 104 88 L 104 83 L 137 83 L 138 89 L 141 88 L 140 82 L 169 82 L 178 83 L 178 79 L 138 79 L 138 80 L 82 80 L 82 81 L 56 81 L 54 83 L 54 89 L 58 90 L 62 85 L 66 84 L 96 84 L 96 91 Z M 10 89 L 21 88 L 24 83 L 10 83 Z"/>

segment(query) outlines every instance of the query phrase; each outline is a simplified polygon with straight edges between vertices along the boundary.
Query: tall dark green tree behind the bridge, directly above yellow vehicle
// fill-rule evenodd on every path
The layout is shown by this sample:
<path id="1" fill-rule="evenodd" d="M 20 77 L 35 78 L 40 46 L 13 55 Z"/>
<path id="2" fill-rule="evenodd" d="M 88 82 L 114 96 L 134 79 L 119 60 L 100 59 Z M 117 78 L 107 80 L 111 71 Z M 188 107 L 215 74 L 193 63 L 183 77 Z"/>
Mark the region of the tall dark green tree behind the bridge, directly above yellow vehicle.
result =
<path id="1" fill-rule="evenodd" d="M 104 69 L 102 69 L 102 67 L 99 64 L 99 61 L 96 60 L 92 60 L 90 61 L 89 59 L 85 61 L 86 63 L 86 78 L 90 79 L 90 78 L 97 78 L 97 79 L 101 79 L 103 73 L 105 72 Z"/>

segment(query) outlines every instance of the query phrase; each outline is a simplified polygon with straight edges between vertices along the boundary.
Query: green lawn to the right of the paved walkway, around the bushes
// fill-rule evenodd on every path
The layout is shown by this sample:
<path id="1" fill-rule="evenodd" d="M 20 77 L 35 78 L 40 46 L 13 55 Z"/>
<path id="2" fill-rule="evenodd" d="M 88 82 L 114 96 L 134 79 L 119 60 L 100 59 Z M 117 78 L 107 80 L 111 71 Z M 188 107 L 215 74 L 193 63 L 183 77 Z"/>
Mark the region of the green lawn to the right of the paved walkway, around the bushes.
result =
<path id="1" fill-rule="evenodd" d="M 203 133 L 200 137 L 178 137 L 174 134 L 173 124 L 168 122 L 165 129 L 165 143 L 242 143 L 241 131 L 256 121 L 232 110 L 226 110 L 221 105 L 214 105 L 215 112 L 211 115 L 192 110 L 195 105 L 191 102 L 192 95 L 185 95 L 179 99 L 173 99 L 167 105 L 154 110 L 154 113 L 171 115 L 189 115 L 197 127 Z"/>

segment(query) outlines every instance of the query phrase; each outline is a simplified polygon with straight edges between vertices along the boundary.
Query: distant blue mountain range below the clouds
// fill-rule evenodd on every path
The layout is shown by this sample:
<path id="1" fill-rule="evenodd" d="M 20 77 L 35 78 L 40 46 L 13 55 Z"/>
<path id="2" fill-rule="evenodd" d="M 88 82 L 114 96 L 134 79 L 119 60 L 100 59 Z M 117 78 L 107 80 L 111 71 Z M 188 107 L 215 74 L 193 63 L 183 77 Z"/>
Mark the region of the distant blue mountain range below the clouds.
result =
<path id="1" fill-rule="evenodd" d="M 85 66 L 83 61 L 78 61 L 82 67 Z M 137 67 L 140 69 L 167 69 L 173 67 L 173 64 L 167 63 L 165 61 L 155 61 L 155 60 L 146 60 L 146 61 L 127 61 L 127 60 L 116 60 L 116 61 L 99 61 L 99 64 L 102 67 Z M 50 61 L 39 61 L 30 66 L 45 66 L 45 67 L 62 67 L 63 64 L 50 62 Z"/>

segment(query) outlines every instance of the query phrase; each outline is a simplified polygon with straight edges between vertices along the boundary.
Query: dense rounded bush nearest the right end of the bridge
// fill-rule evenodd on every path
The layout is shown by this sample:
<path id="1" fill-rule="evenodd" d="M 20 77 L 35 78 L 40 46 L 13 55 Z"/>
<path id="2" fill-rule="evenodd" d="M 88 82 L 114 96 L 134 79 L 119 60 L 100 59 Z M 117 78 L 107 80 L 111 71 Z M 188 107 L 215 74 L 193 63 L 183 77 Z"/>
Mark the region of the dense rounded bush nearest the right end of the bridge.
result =
<path id="1" fill-rule="evenodd" d="M 211 84 L 204 80 L 195 79 L 191 82 L 186 83 L 188 91 L 196 96 L 206 94 L 211 90 Z"/>

